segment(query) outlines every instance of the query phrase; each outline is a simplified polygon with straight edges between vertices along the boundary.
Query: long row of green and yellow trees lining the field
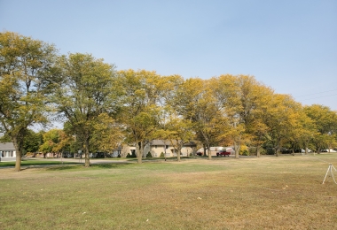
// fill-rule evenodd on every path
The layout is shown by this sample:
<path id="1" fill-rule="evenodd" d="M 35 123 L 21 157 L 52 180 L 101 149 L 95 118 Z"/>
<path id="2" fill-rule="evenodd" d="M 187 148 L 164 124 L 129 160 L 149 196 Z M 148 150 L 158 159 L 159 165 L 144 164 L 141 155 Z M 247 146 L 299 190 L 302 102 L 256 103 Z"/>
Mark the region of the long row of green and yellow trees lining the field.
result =
<path id="1" fill-rule="evenodd" d="M 145 70 L 116 71 L 90 54 L 59 55 L 54 45 L 12 32 L 0 34 L 0 128 L 17 151 L 16 170 L 28 127 L 65 122 L 90 165 L 90 149 L 135 144 L 138 163 L 153 139 L 180 149 L 197 140 L 206 148 L 243 144 L 260 149 L 319 149 L 336 142 L 336 112 L 302 106 L 276 94 L 253 76 L 208 80 L 161 76 Z M 211 158 L 210 155 L 208 155 Z"/>

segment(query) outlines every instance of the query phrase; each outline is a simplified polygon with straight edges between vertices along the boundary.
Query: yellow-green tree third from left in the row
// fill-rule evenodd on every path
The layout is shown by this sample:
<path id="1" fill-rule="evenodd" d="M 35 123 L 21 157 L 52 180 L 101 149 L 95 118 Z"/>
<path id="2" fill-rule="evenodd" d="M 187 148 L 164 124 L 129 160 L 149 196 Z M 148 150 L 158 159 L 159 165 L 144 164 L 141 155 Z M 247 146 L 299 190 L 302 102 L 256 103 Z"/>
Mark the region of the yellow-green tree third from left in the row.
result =
<path id="1" fill-rule="evenodd" d="M 118 121 L 125 126 L 125 142 L 136 145 L 137 162 L 142 163 L 144 148 L 159 126 L 161 103 L 167 92 L 166 78 L 145 70 L 120 71 L 123 89 Z"/>

